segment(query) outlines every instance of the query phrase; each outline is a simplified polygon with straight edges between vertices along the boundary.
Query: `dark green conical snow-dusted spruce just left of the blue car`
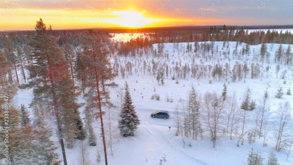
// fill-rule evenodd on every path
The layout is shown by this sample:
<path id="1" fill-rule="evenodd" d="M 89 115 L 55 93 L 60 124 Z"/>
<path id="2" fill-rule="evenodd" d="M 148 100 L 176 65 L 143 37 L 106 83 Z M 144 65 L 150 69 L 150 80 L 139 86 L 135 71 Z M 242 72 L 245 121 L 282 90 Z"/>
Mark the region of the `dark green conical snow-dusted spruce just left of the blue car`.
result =
<path id="1" fill-rule="evenodd" d="M 129 93 L 129 86 L 125 81 L 125 98 L 120 112 L 121 120 L 120 123 L 120 134 L 123 137 L 134 136 L 134 131 L 140 124 L 140 120 L 135 111 L 135 106 L 132 105 L 132 98 Z"/>

